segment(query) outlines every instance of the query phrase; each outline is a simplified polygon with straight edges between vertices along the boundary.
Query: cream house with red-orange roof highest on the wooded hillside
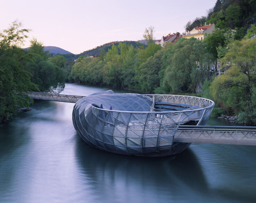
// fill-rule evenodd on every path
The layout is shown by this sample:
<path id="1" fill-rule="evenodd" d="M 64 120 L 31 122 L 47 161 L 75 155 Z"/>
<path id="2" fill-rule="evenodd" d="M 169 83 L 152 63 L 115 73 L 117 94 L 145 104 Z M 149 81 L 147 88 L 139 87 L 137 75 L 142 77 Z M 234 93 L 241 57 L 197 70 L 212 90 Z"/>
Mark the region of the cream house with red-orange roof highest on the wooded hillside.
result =
<path id="1" fill-rule="evenodd" d="M 200 25 L 200 26 L 194 27 L 190 31 L 187 30 L 185 35 L 183 35 L 183 37 L 187 39 L 194 37 L 198 40 L 203 40 L 206 37 L 205 34 L 212 33 L 214 28 L 215 28 L 215 24 L 209 24 L 204 26 Z"/>

